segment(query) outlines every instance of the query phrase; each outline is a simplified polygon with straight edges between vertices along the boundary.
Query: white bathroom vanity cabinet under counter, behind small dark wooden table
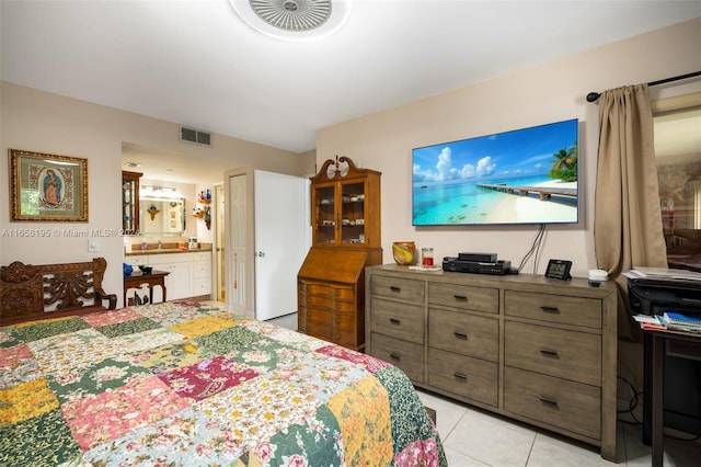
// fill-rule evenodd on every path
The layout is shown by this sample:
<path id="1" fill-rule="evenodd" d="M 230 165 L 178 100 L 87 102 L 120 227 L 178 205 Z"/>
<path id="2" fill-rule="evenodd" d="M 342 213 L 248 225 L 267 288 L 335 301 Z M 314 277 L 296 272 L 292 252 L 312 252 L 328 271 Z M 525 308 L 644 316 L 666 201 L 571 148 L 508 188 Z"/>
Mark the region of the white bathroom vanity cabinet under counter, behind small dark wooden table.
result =
<path id="1" fill-rule="evenodd" d="M 211 294 L 211 252 L 151 253 L 128 255 L 125 263 L 134 269 L 139 265 L 152 266 L 154 271 L 165 271 L 165 298 L 177 300 Z M 163 300 L 161 287 L 153 288 L 153 301 Z"/>

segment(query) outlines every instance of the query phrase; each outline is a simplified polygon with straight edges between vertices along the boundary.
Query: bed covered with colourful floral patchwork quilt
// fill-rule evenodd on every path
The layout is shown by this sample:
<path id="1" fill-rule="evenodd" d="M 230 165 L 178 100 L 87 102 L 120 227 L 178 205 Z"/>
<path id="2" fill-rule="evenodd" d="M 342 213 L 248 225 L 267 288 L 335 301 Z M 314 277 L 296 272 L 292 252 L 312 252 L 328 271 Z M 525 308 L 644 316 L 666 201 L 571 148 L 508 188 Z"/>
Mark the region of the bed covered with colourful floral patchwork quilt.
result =
<path id="1" fill-rule="evenodd" d="M 0 465 L 445 466 L 407 377 L 200 303 L 0 328 Z"/>

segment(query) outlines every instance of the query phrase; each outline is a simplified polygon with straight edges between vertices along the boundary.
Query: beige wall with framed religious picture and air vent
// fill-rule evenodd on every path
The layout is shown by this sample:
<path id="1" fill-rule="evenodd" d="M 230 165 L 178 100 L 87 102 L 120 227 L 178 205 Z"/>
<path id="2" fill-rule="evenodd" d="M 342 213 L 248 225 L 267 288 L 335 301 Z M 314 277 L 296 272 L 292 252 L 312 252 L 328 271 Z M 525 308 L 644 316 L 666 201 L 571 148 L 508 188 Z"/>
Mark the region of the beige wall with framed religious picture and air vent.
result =
<path id="1" fill-rule="evenodd" d="M 313 168 L 313 152 L 298 156 L 241 139 L 216 135 L 212 148 L 182 144 L 175 123 L 149 118 L 102 105 L 68 99 L 8 82 L 0 83 L 0 264 L 13 261 L 45 264 L 87 261 L 101 255 L 107 260 L 104 288 L 122 301 L 123 239 L 118 235 L 100 238 L 100 252 L 88 252 L 85 237 L 69 237 L 65 229 L 89 235 L 92 229 L 119 230 L 122 143 L 127 141 L 197 160 L 212 151 L 230 160 L 231 169 L 242 166 L 294 175 Z M 175 135 L 175 136 L 174 136 Z M 10 223 L 8 149 L 24 149 L 88 159 L 89 223 Z M 223 173 L 222 173 L 223 179 Z M 200 189 L 197 185 L 196 190 Z M 211 186 L 207 186 L 211 187 Z M 193 204 L 188 203 L 192 209 Z M 192 219 L 192 218 L 191 218 Z M 188 220 L 191 220 L 188 219 Z M 194 223 L 192 219 L 191 224 Z M 211 241 L 211 231 L 197 226 L 200 241 Z M 51 229 L 50 238 L 19 237 L 37 229 Z M 18 229 L 22 229 L 19 231 Z"/>

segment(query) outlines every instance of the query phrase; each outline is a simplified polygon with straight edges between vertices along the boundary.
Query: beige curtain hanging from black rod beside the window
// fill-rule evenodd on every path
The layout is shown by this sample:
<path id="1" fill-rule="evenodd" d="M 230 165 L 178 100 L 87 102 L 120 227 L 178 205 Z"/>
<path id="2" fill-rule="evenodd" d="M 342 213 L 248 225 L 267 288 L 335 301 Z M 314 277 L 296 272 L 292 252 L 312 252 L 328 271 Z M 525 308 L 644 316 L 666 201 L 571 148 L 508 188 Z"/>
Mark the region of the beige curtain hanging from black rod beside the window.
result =
<path id="1" fill-rule="evenodd" d="M 647 84 L 599 98 L 594 244 L 598 267 L 619 286 L 619 337 L 637 340 L 621 274 L 634 266 L 667 267 Z"/>

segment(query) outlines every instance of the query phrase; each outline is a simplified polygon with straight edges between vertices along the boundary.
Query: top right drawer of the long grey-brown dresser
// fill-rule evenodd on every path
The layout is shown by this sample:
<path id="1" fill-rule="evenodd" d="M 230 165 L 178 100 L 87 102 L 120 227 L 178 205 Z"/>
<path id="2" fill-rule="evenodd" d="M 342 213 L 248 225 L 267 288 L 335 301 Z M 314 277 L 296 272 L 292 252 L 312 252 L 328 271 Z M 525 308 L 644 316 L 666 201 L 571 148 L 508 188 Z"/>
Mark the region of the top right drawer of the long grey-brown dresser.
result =
<path id="1" fill-rule="evenodd" d="M 506 316 L 601 329 L 601 300 L 566 295 L 506 291 Z"/>

